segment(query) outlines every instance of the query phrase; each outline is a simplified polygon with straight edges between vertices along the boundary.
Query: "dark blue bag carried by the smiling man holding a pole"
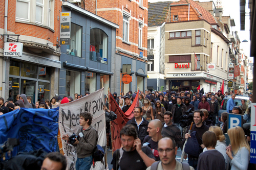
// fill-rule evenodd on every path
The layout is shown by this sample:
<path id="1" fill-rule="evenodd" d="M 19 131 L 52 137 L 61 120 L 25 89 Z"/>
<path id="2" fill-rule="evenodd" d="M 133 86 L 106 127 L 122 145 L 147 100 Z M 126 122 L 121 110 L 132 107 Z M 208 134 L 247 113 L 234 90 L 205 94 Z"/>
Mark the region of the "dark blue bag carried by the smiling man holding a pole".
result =
<path id="1" fill-rule="evenodd" d="M 190 134 L 191 137 L 188 138 L 184 151 L 188 155 L 199 157 L 203 149 L 197 141 L 196 133 L 197 131 L 191 132 Z"/>

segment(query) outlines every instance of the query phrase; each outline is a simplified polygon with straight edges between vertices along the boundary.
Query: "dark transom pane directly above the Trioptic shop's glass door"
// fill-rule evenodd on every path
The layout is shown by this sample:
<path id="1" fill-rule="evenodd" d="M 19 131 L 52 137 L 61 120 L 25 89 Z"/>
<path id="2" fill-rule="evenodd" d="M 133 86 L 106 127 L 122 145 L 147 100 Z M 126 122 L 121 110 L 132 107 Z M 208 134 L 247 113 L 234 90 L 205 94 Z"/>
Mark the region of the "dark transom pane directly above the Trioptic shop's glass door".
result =
<path id="1" fill-rule="evenodd" d="M 37 65 L 22 62 L 22 77 L 37 79 Z"/>

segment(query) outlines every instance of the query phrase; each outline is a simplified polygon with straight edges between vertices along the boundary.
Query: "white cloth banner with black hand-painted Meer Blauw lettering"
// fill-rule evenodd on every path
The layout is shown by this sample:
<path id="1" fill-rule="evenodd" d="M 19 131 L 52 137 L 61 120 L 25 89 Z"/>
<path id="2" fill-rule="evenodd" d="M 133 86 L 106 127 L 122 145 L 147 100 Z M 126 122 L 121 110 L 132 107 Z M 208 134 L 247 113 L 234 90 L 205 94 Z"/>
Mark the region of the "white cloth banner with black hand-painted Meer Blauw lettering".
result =
<path id="1" fill-rule="evenodd" d="M 106 129 L 105 129 L 105 112 L 104 106 L 104 91 L 103 89 L 97 90 L 81 99 L 75 100 L 70 103 L 65 103 L 59 106 L 59 131 L 60 136 L 68 134 L 71 136 L 73 133 L 77 134 L 79 125 L 79 114 L 88 111 L 93 115 L 92 127 L 98 132 L 98 143 L 105 150 L 106 148 Z M 62 150 L 67 156 L 67 169 L 75 169 L 75 162 L 77 159 L 76 147 L 62 140 Z M 60 148 L 61 150 L 61 148 Z M 106 150 L 105 150 L 106 151 Z M 104 160 L 104 158 L 103 158 Z M 105 169 L 105 165 L 101 162 L 96 162 L 95 167 L 91 169 Z"/>

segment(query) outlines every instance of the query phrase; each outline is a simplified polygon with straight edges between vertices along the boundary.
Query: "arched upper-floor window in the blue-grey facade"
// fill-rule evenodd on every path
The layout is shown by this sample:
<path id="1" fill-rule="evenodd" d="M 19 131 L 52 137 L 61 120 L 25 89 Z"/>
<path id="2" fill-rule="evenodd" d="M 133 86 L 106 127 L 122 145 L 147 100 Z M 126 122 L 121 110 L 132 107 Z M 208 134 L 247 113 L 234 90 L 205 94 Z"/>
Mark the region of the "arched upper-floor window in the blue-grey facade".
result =
<path id="1" fill-rule="evenodd" d="M 90 32 L 90 60 L 108 64 L 108 36 L 97 28 Z"/>

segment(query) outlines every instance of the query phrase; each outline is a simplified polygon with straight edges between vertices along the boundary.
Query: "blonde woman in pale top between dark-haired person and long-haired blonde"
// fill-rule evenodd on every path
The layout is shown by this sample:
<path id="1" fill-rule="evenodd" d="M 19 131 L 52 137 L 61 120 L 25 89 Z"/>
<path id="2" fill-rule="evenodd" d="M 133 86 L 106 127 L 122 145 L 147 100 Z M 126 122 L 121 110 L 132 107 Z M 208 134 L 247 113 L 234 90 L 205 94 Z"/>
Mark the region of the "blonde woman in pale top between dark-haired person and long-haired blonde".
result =
<path id="1" fill-rule="evenodd" d="M 225 169 L 228 169 L 228 156 L 226 154 L 226 147 L 227 147 L 227 145 L 226 145 L 226 141 L 225 141 L 226 138 L 225 138 L 225 136 L 223 134 L 223 131 L 218 126 L 210 127 L 209 131 L 212 131 L 212 132 L 214 132 L 216 134 L 217 143 L 216 143 L 215 149 L 217 151 L 219 151 L 223 155 L 223 157 L 225 159 L 225 167 L 226 167 Z M 203 152 L 206 151 L 206 150 L 207 149 L 204 148 Z"/>

